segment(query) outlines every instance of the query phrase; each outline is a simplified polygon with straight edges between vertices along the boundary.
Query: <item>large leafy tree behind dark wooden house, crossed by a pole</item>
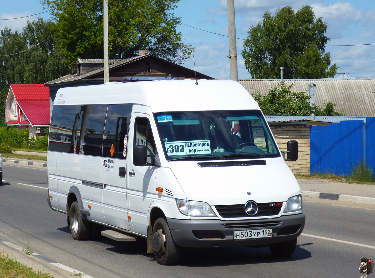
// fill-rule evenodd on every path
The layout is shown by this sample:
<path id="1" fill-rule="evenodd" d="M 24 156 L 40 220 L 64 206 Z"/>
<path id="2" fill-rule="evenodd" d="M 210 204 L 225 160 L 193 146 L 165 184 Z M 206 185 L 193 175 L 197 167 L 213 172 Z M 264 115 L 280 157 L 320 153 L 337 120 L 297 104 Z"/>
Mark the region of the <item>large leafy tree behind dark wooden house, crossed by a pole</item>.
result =
<path id="1" fill-rule="evenodd" d="M 108 1 L 108 50 L 110 59 L 124 59 L 147 49 L 181 64 L 193 48 L 176 31 L 180 18 L 173 10 L 178 0 Z M 60 28 L 57 40 L 65 60 L 103 58 L 103 1 L 43 0 L 52 9 Z"/>

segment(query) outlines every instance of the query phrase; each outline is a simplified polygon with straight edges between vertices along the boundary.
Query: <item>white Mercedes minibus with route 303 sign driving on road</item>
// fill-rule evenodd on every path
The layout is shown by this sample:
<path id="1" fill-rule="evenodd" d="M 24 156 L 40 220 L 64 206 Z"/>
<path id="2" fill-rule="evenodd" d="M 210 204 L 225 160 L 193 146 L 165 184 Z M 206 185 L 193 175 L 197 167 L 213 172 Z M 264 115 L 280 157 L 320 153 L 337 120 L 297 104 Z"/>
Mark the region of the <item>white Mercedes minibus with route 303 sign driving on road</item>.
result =
<path id="1" fill-rule="evenodd" d="M 269 247 L 290 256 L 301 188 L 239 83 L 138 81 L 61 88 L 48 142 L 48 204 L 74 239 L 147 239 L 158 263 L 184 247 Z"/>

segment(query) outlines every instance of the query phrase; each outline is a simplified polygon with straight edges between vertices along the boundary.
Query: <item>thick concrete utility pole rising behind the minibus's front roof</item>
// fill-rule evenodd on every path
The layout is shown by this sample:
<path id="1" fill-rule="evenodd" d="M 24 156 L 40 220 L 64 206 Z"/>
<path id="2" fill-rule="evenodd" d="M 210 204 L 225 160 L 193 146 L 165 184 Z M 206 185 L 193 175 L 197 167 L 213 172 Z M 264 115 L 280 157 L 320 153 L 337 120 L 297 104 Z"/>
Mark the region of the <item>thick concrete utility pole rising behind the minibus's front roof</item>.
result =
<path id="1" fill-rule="evenodd" d="M 229 31 L 229 71 L 231 80 L 238 82 L 236 20 L 234 16 L 234 0 L 228 0 L 228 31 Z"/>

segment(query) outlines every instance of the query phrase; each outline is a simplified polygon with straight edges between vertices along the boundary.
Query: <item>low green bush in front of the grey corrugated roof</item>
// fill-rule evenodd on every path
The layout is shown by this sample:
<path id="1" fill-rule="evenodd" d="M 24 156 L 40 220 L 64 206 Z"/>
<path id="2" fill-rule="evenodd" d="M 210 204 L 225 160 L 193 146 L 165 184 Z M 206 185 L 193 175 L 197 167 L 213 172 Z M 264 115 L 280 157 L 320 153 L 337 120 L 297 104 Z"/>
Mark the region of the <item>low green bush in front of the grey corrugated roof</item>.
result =
<path id="1" fill-rule="evenodd" d="M 317 116 L 342 115 L 335 112 L 335 103 L 328 102 L 325 108 L 316 104 L 310 105 L 310 96 L 307 91 L 294 92 L 294 84 L 285 85 L 280 82 L 276 87 L 270 88 L 268 93 L 262 95 L 260 91 L 252 94 L 258 102 L 264 115 L 281 116 L 310 116 L 312 111 Z"/>

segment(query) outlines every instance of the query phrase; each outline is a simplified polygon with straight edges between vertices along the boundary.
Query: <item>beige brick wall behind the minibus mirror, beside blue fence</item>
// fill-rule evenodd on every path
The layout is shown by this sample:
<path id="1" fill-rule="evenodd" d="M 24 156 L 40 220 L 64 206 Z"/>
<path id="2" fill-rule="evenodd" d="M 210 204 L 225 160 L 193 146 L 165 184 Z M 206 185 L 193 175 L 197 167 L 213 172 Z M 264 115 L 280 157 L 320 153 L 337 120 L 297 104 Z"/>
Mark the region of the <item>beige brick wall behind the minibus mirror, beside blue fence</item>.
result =
<path id="1" fill-rule="evenodd" d="M 293 173 L 310 173 L 310 126 L 270 127 L 276 143 L 282 151 L 287 150 L 287 142 L 289 140 L 298 141 L 298 160 L 287 162 Z"/>

